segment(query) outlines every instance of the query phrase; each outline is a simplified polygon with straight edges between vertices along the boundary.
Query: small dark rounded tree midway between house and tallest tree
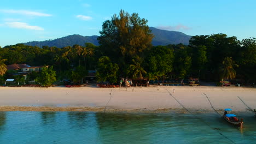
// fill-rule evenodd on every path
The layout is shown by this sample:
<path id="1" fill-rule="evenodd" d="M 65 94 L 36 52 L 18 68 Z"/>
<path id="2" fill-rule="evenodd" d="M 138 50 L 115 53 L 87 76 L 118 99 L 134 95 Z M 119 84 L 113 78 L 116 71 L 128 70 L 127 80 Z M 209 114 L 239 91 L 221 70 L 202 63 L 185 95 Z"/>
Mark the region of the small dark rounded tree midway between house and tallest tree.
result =
<path id="1" fill-rule="evenodd" d="M 78 66 L 74 71 L 71 71 L 71 80 L 73 82 L 81 82 L 81 80 L 88 75 L 88 71 L 85 67 Z"/>

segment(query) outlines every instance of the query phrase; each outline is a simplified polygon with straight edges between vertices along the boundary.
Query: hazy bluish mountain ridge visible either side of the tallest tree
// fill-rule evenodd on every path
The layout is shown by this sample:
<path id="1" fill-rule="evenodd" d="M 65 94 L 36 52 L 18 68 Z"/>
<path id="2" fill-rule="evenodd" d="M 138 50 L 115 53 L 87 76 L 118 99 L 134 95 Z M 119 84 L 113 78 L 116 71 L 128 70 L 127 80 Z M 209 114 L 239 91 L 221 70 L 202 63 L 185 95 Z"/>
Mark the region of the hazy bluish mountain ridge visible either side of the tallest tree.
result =
<path id="1" fill-rule="evenodd" d="M 179 44 L 182 43 L 184 45 L 189 44 L 190 35 L 186 35 L 182 32 L 176 31 L 166 31 L 157 29 L 154 27 L 150 27 L 152 33 L 155 35 L 153 38 L 152 44 L 156 45 L 168 45 L 168 44 Z M 92 43 L 94 45 L 98 45 L 97 35 L 92 36 L 82 36 L 79 34 L 68 35 L 66 37 L 54 39 L 54 40 L 45 40 L 45 41 L 31 41 L 28 43 L 23 43 L 25 45 L 31 46 L 56 46 L 56 47 L 65 47 L 65 46 L 73 46 L 75 44 L 84 46 L 85 43 Z"/>

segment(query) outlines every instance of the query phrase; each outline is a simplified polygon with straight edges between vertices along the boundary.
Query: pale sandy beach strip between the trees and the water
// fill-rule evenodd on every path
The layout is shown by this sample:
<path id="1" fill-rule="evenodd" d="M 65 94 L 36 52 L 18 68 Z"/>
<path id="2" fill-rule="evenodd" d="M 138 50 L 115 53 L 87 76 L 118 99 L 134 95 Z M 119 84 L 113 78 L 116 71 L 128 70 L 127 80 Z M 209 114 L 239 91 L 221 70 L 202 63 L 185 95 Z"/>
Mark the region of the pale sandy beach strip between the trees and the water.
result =
<path id="1" fill-rule="evenodd" d="M 219 112 L 256 109 L 256 88 L 245 87 L 0 87 L 0 111 L 213 111 L 206 95 Z"/>

